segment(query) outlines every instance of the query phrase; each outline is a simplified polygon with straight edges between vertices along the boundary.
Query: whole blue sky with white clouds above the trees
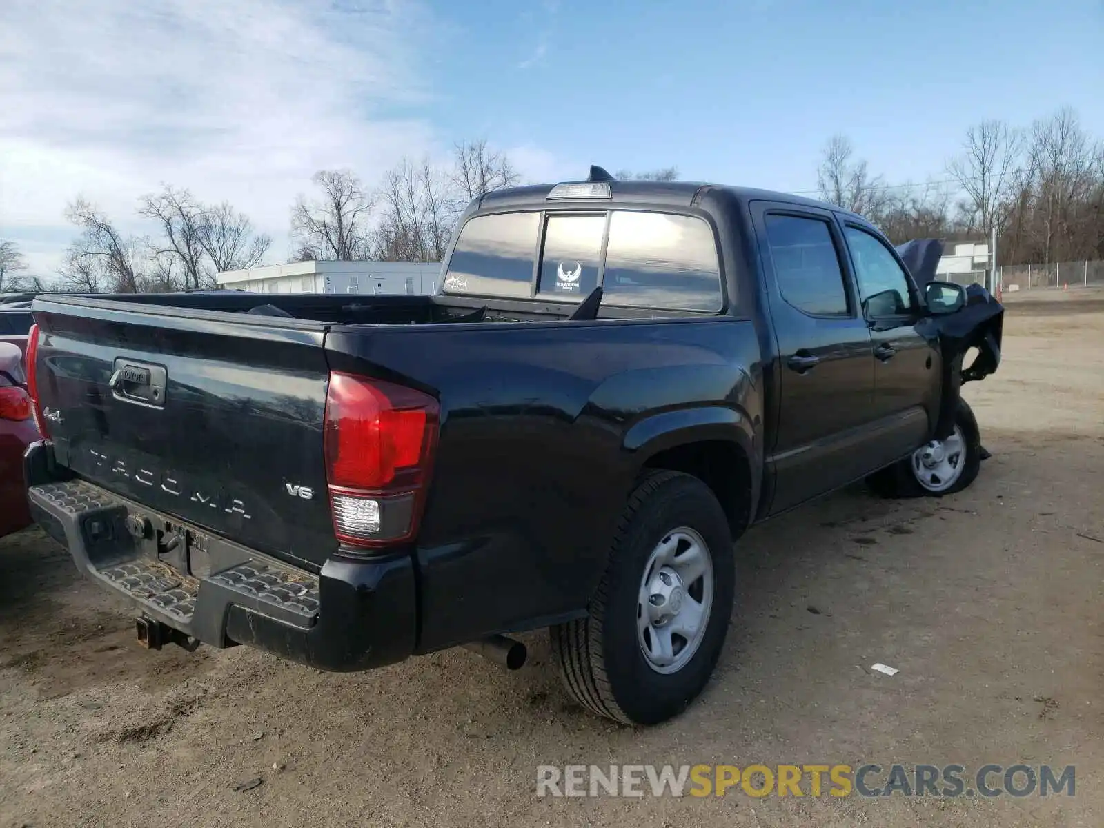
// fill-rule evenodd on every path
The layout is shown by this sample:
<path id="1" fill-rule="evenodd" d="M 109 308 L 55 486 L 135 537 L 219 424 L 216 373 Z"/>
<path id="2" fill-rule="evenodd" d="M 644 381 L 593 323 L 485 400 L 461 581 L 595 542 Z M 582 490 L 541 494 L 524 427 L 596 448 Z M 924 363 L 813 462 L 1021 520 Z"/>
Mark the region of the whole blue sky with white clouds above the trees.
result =
<path id="1" fill-rule="evenodd" d="M 816 187 L 849 136 L 887 181 L 945 178 L 966 128 L 1060 106 L 1104 138 L 1104 1 L 7 0 L 0 237 L 50 275 L 78 193 L 128 232 L 169 182 L 288 251 L 320 168 L 372 183 L 487 138 L 532 180 L 677 166 Z M 125 44 L 120 47 L 119 44 Z"/>

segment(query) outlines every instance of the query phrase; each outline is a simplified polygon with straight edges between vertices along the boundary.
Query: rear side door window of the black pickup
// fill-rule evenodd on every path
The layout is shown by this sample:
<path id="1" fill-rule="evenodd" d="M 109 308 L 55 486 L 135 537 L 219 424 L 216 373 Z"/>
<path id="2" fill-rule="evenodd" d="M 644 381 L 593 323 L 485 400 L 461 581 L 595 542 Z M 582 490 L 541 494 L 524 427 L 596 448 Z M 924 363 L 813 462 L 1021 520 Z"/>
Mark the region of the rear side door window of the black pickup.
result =
<path id="1" fill-rule="evenodd" d="M 767 244 L 782 297 L 810 316 L 849 316 L 843 272 L 828 222 L 767 215 Z"/>

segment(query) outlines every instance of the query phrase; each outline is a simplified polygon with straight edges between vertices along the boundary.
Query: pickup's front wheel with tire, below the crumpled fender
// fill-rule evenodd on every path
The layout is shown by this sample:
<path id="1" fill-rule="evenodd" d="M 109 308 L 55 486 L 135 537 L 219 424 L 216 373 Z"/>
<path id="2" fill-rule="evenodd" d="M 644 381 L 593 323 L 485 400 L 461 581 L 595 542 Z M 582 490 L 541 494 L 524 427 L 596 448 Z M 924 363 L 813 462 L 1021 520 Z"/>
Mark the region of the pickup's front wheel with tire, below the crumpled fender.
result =
<path id="1" fill-rule="evenodd" d="M 974 411 L 959 400 L 951 437 L 927 443 L 900 463 L 870 475 L 867 488 L 884 498 L 953 495 L 974 482 L 983 450 Z"/>

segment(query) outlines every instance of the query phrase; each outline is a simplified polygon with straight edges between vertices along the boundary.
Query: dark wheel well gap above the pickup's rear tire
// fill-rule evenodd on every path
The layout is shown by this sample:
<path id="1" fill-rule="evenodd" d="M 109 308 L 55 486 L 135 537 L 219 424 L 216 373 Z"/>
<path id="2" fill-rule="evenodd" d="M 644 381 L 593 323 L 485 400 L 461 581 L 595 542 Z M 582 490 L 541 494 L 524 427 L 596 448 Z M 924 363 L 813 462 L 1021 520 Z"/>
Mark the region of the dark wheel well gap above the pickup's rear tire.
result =
<path id="1" fill-rule="evenodd" d="M 739 538 L 747 528 L 754 508 L 751 463 L 735 443 L 726 439 L 686 443 L 652 455 L 645 467 L 697 477 L 721 502 L 732 537 Z"/>

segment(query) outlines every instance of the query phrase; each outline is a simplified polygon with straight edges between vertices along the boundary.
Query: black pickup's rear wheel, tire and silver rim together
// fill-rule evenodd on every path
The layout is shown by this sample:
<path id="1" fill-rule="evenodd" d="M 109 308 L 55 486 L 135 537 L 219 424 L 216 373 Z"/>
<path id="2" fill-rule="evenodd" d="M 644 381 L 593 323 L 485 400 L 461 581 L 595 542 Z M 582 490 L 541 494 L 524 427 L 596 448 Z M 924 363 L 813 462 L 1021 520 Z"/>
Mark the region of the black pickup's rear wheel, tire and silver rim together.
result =
<path id="1" fill-rule="evenodd" d="M 599 715 L 656 724 L 702 691 L 735 590 L 732 534 L 705 484 L 654 471 L 628 499 L 585 618 L 550 629 L 569 692 Z"/>

